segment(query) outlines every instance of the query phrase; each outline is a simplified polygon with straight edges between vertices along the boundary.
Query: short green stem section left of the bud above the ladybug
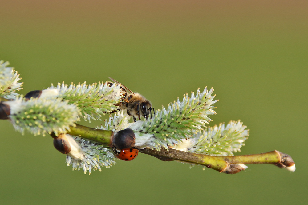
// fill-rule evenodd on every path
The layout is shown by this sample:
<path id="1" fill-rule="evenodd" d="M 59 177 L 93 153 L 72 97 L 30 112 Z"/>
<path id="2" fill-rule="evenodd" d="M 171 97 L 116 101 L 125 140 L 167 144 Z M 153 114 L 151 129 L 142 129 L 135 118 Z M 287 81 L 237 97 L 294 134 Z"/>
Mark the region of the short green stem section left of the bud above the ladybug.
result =
<path id="1" fill-rule="evenodd" d="M 67 132 L 67 134 L 93 140 L 107 146 L 111 145 L 113 137 L 111 130 L 89 128 L 80 124 L 76 124 L 76 127 L 71 126 L 70 129 L 71 131 Z"/>

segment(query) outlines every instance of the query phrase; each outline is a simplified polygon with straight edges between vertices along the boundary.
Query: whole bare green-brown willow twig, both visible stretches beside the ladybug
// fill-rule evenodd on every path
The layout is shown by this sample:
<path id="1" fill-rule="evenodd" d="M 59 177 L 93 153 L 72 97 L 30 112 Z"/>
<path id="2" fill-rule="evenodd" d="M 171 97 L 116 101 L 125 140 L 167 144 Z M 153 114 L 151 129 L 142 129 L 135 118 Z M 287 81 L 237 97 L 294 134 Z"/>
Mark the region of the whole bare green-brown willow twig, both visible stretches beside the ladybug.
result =
<path id="1" fill-rule="evenodd" d="M 107 146 L 111 146 L 114 136 L 112 131 L 89 128 L 79 124 L 76 124 L 76 127 L 71 127 L 71 131 L 68 134 L 93 140 Z M 160 151 L 145 148 L 140 149 L 139 152 L 154 156 L 163 161 L 176 160 L 189 164 L 200 164 L 226 174 L 235 174 L 245 170 L 246 166 L 244 164 L 274 164 L 280 168 L 292 167 L 294 165 L 294 161 L 289 155 L 276 150 L 242 156 L 210 156 L 172 148 L 169 148 L 168 151 L 165 148 L 161 148 Z"/>

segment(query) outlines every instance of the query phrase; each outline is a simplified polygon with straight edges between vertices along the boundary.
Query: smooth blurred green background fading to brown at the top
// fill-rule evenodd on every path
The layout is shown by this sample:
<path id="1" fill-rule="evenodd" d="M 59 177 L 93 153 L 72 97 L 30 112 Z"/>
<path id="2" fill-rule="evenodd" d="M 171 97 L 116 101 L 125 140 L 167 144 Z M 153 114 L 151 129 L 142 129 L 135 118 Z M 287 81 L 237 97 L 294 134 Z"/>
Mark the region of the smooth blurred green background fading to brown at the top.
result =
<path id="1" fill-rule="evenodd" d="M 277 149 L 294 173 L 236 175 L 140 154 L 84 175 L 51 137 L 0 122 L 1 204 L 303 204 L 307 196 L 307 1 L 2 1 L 0 58 L 23 90 L 113 77 L 155 109 L 214 87 L 210 126 L 250 129 L 241 153 Z M 96 126 L 102 122 L 83 123 Z"/>

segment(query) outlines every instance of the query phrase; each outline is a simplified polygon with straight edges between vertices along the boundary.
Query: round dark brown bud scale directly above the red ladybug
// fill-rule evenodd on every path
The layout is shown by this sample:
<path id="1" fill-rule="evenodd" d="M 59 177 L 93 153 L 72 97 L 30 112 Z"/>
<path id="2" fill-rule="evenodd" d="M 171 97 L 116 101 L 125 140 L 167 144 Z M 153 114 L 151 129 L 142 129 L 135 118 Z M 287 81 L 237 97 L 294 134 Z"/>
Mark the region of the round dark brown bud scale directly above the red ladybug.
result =
<path id="1" fill-rule="evenodd" d="M 131 148 L 135 146 L 135 133 L 131 129 L 124 129 L 115 134 L 112 145 L 117 149 Z"/>

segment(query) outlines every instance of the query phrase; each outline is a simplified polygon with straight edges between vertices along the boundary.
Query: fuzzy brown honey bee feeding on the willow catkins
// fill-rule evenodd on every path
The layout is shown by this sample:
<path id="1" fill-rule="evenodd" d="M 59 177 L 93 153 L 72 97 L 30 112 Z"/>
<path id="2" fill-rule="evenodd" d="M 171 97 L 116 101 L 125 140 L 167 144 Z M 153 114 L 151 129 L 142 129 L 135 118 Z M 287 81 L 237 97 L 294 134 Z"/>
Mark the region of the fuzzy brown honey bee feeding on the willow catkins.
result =
<path id="1" fill-rule="evenodd" d="M 120 84 L 115 79 L 109 77 L 111 81 L 114 81 L 117 84 Z M 110 86 L 112 86 L 112 82 L 108 82 Z M 149 115 L 152 118 L 152 110 L 155 115 L 154 108 L 152 108 L 152 104 L 145 97 L 140 95 L 139 93 L 133 93 L 130 89 L 121 84 L 121 89 L 124 93 L 123 102 L 120 102 L 116 105 L 119 106 L 118 110 L 126 110 L 127 114 L 133 116 L 134 122 L 136 122 L 136 118 L 140 120 L 140 116 L 143 116 L 148 120 Z M 117 112 L 117 111 L 113 111 Z M 112 112 L 111 112 L 112 113 Z"/>

